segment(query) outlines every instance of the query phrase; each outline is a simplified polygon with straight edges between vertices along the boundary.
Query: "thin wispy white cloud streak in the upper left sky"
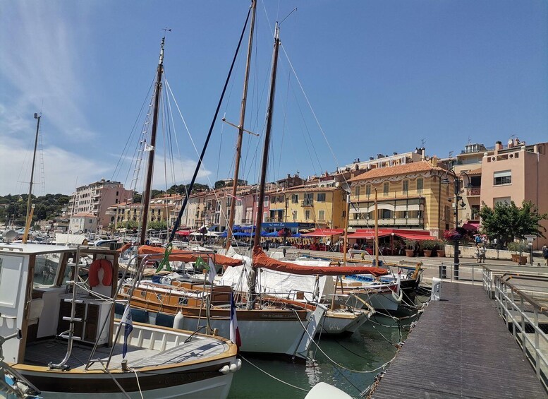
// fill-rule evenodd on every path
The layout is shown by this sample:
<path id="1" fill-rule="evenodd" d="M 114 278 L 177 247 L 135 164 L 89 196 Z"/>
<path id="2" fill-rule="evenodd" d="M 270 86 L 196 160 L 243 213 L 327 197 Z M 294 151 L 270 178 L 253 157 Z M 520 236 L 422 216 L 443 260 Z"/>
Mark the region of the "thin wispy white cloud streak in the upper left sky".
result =
<path id="1" fill-rule="evenodd" d="M 18 112 L 39 112 L 43 103 L 44 114 L 65 138 L 79 131 L 91 138 L 82 112 L 85 68 L 76 39 L 85 35 L 84 21 L 61 11 L 63 7 L 48 1 L 16 1 L 4 7 L 0 23 L 9 34 L 0 36 L 0 74 L 10 93 L 7 110 L 22 117 Z"/>

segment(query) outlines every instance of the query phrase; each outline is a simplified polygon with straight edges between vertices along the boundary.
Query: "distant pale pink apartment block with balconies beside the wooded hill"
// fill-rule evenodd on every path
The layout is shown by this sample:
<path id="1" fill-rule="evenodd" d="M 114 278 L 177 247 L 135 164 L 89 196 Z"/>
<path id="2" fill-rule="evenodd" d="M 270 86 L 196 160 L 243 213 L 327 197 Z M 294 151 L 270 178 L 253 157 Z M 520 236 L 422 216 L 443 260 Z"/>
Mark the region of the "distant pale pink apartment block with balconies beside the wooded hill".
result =
<path id="1" fill-rule="evenodd" d="M 124 189 L 123 184 L 119 181 L 105 179 L 95 181 L 95 183 L 76 189 L 68 202 L 67 217 L 72 219 L 76 215 L 92 215 L 92 218 L 97 219 L 95 230 L 106 228 L 111 221 L 111 215 L 106 215 L 109 206 L 126 202 L 132 196 L 133 191 Z M 81 217 L 78 216 L 78 218 Z"/>

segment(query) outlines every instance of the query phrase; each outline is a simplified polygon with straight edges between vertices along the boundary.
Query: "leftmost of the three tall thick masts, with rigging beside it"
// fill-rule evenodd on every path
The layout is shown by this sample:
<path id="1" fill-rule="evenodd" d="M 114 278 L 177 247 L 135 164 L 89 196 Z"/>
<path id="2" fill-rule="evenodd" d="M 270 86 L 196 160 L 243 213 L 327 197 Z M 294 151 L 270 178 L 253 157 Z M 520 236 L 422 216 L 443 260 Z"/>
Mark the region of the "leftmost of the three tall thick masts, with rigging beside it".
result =
<path id="1" fill-rule="evenodd" d="M 145 244 L 147 235 L 148 207 L 150 206 L 150 195 L 152 186 L 152 169 L 154 168 L 154 153 L 156 152 L 156 131 L 158 127 L 158 111 L 160 102 L 160 93 L 162 92 L 162 72 L 164 71 L 164 42 L 166 37 L 162 37 L 160 44 L 160 60 L 158 62 L 156 87 L 154 89 L 154 116 L 152 117 L 152 132 L 150 133 L 150 153 L 148 155 L 147 181 L 145 190 L 142 193 L 142 226 L 140 244 Z"/>

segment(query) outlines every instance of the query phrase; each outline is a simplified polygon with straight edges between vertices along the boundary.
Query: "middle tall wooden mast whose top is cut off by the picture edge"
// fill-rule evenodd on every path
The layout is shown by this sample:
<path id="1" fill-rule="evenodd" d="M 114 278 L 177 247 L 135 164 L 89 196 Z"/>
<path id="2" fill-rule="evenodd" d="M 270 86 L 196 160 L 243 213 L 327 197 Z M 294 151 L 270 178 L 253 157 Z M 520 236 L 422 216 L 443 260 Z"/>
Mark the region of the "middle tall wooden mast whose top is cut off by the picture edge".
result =
<path id="1" fill-rule="evenodd" d="M 248 102 L 248 83 L 249 70 L 251 66 L 251 49 L 253 45 L 253 31 L 255 30 L 255 9 L 257 8 L 257 0 L 251 0 L 251 27 L 249 30 L 248 42 L 248 58 L 245 61 L 245 78 L 243 81 L 242 105 L 240 107 L 240 124 L 238 125 L 238 142 L 236 143 L 236 164 L 234 165 L 234 179 L 232 181 L 232 201 L 230 206 L 229 230 L 226 236 L 226 249 L 230 248 L 231 237 L 233 236 L 234 213 L 236 210 L 236 193 L 238 190 L 238 174 L 240 173 L 240 159 L 242 157 L 242 138 L 243 138 L 243 123 L 245 121 L 245 106 Z"/>

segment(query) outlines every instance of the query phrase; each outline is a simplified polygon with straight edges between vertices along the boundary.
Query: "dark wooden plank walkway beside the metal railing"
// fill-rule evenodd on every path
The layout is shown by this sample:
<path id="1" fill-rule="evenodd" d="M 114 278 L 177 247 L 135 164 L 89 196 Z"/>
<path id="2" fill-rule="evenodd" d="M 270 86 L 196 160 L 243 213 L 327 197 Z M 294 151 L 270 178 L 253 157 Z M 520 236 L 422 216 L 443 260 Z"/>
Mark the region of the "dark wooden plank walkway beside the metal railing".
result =
<path id="1" fill-rule="evenodd" d="M 481 286 L 442 283 L 372 398 L 548 398 Z"/>

